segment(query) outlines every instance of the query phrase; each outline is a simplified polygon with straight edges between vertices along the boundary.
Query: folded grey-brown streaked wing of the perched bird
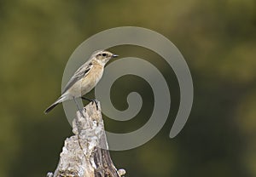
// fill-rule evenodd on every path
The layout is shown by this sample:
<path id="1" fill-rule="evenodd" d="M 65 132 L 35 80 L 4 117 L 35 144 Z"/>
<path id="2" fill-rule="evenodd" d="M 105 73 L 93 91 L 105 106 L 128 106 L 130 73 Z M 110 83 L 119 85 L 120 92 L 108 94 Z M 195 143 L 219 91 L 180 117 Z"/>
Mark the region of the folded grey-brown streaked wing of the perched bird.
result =
<path id="1" fill-rule="evenodd" d="M 82 77 L 85 77 L 90 72 L 92 67 L 91 61 L 87 61 L 84 65 L 80 66 L 79 69 L 73 74 L 73 77 L 68 81 L 67 85 L 62 91 L 64 94 L 69 88 L 73 86 L 74 83 L 78 82 Z"/>

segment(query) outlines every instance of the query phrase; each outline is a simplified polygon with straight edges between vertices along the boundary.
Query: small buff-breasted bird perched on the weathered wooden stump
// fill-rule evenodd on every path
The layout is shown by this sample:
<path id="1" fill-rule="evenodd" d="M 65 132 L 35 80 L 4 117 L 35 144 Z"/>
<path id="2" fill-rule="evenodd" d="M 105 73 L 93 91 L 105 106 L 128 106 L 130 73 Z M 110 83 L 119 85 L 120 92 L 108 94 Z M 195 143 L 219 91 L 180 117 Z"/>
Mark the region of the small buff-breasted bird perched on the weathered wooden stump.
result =
<path id="1" fill-rule="evenodd" d="M 49 113 L 49 111 L 54 109 L 55 106 L 66 100 L 74 100 L 78 109 L 79 105 L 76 101 L 77 98 L 82 98 L 84 100 L 90 100 L 97 103 L 95 99 L 91 100 L 84 98 L 83 95 L 89 93 L 91 89 L 96 87 L 96 84 L 102 78 L 104 66 L 109 60 L 118 56 L 119 55 L 112 54 L 108 50 L 97 50 L 91 54 L 90 59 L 74 72 L 73 77 L 70 78 L 67 85 L 63 89 L 61 96 L 52 105 L 50 105 L 44 111 L 44 113 Z M 83 115 L 80 109 L 79 111 Z"/>

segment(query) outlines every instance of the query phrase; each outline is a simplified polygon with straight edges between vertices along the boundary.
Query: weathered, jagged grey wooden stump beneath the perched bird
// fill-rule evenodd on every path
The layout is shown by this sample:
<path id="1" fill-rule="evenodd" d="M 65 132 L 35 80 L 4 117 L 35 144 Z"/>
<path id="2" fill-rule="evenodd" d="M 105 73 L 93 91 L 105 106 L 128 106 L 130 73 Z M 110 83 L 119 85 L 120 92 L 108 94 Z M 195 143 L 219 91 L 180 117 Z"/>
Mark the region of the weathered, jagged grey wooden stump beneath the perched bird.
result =
<path id="1" fill-rule="evenodd" d="M 84 107 L 73 119 L 73 136 L 65 140 L 55 173 L 48 177 L 120 177 L 125 169 L 117 170 L 108 151 L 100 103 Z"/>

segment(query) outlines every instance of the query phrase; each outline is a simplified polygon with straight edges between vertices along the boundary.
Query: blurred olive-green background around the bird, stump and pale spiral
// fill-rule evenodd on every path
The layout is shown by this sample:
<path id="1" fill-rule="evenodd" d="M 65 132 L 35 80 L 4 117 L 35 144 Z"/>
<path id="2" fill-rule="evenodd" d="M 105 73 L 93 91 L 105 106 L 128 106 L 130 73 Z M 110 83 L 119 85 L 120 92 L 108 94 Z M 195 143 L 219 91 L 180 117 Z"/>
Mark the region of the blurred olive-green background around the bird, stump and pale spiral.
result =
<path id="1" fill-rule="evenodd" d="M 55 170 L 72 130 L 61 106 L 49 115 L 43 111 L 61 94 L 73 50 L 117 26 L 141 26 L 168 37 L 187 60 L 195 87 L 189 121 L 169 139 L 179 104 L 172 68 L 148 49 L 111 49 L 150 61 L 172 94 L 168 121 L 153 140 L 111 152 L 117 168 L 125 168 L 127 177 L 256 176 L 255 0 L 1 0 L 0 21 L 1 177 L 38 177 Z M 125 110 L 131 91 L 143 96 L 142 111 L 125 123 L 104 117 L 109 131 L 135 130 L 150 117 L 153 92 L 139 77 L 113 84 L 114 106 Z"/>

